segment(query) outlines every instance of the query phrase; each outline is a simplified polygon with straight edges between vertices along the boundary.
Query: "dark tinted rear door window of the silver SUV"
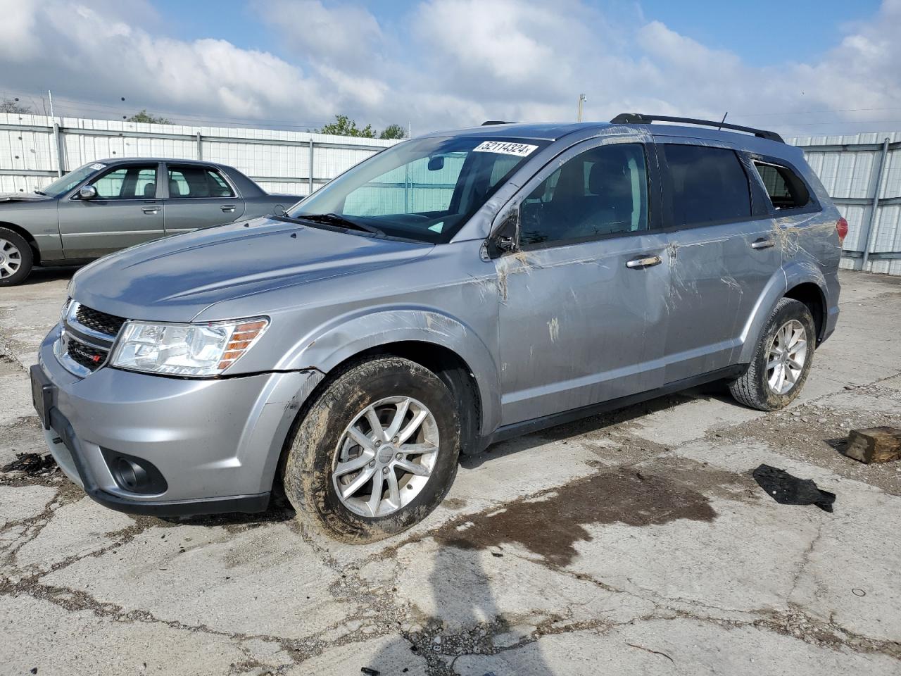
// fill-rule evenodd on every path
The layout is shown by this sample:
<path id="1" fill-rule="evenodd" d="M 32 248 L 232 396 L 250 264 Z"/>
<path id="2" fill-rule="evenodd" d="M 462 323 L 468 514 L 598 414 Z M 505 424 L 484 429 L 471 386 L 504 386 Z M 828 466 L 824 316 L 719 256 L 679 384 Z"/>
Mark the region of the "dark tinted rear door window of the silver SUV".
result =
<path id="1" fill-rule="evenodd" d="M 674 225 L 705 225 L 751 216 L 751 191 L 733 151 L 696 145 L 664 146 L 672 180 Z"/>

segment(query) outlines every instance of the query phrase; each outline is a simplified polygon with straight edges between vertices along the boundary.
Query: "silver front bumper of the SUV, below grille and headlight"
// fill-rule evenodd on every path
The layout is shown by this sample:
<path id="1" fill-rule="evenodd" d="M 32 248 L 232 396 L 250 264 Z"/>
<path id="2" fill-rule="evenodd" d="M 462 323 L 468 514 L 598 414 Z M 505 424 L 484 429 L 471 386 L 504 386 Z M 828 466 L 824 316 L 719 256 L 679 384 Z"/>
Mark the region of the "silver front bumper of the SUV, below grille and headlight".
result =
<path id="1" fill-rule="evenodd" d="M 202 380 L 105 367 L 79 379 L 53 354 L 58 336 L 56 327 L 39 355 L 54 386 L 45 436 L 59 467 L 91 498 L 157 516 L 266 509 L 287 433 L 321 373 Z M 165 489 L 123 489 L 111 452 L 152 463 Z"/>

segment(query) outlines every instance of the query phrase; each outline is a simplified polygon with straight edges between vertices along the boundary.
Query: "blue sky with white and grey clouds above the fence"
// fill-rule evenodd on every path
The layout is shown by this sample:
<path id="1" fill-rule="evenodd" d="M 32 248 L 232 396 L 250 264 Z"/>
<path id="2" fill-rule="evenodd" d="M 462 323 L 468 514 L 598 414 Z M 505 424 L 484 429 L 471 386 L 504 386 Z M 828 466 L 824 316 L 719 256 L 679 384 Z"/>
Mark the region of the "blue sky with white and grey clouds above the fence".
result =
<path id="1" fill-rule="evenodd" d="M 901 0 L 0 0 L 0 97 L 42 112 L 414 135 L 622 112 L 901 130 Z M 42 98 L 43 97 L 43 98 Z"/>

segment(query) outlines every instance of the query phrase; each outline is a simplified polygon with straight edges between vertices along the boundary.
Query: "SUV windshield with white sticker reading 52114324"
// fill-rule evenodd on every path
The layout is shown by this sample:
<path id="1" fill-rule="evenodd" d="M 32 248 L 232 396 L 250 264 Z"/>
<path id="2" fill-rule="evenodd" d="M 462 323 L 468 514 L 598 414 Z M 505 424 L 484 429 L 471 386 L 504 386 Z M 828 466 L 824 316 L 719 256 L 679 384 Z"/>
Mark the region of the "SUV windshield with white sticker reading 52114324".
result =
<path id="1" fill-rule="evenodd" d="M 356 225 L 347 232 L 450 242 L 506 178 L 546 144 L 484 136 L 399 143 L 335 178 L 288 215 Z"/>

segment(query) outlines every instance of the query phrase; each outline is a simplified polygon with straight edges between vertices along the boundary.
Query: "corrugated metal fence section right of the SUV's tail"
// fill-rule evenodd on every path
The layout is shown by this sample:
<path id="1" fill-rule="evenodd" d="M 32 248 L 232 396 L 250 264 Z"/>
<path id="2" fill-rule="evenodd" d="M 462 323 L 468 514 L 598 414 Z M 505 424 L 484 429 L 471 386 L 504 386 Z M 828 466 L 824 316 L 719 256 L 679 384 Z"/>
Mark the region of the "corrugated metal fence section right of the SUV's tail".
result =
<path id="1" fill-rule="evenodd" d="M 867 242 L 863 241 L 863 233 L 869 224 L 874 194 L 882 200 L 901 197 L 901 147 L 888 151 L 882 169 L 881 185 L 876 186 L 881 146 L 886 139 L 890 144 L 897 144 L 901 142 L 901 132 L 786 139 L 801 148 L 816 147 L 815 150 L 805 151 L 805 157 L 823 181 L 830 196 L 867 200 L 867 204 L 838 205 L 839 211 L 848 221 L 848 237 L 844 242 L 846 251 L 864 251 L 867 246 Z M 872 242 L 871 253 L 901 251 L 901 205 L 881 204 L 877 207 L 869 240 Z M 846 257 L 842 259 L 842 268 L 860 269 L 862 262 L 860 258 Z M 869 260 L 866 269 L 870 272 L 901 275 L 901 259 Z"/>

